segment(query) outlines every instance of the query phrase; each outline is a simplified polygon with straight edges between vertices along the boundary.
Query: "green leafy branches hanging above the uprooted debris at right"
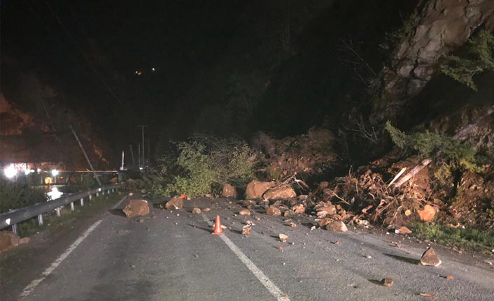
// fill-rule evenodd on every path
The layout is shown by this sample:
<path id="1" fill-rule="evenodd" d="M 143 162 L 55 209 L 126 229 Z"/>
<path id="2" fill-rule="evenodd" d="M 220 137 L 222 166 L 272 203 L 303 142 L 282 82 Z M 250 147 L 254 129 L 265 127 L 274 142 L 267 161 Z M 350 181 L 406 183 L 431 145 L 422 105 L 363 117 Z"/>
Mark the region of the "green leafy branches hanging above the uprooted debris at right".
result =
<path id="1" fill-rule="evenodd" d="M 447 135 L 446 133 L 412 133 L 410 135 L 396 129 L 389 121 L 386 122 L 386 131 L 391 140 L 400 149 L 414 150 L 421 159 L 434 156 L 439 168 L 435 171 L 435 178 L 446 182 L 455 171 L 481 172 L 477 150 L 468 142 Z"/>

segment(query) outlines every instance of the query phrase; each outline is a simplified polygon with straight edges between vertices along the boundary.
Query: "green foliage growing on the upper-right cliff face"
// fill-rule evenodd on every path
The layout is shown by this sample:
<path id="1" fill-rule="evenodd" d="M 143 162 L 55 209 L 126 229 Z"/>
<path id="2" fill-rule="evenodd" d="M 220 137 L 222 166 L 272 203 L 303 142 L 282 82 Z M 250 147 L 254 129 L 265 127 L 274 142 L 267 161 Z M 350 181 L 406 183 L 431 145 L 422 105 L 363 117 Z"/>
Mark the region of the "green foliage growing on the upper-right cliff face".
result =
<path id="1" fill-rule="evenodd" d="M 484 71 L 494 71 L 493 34 L 485 30 L 480 31 L 467 42 L 465 54 L 460 57 L 455 55 L 444 57 L 440 70 L 444 75 L 477 91 L 474 75 Z"/>

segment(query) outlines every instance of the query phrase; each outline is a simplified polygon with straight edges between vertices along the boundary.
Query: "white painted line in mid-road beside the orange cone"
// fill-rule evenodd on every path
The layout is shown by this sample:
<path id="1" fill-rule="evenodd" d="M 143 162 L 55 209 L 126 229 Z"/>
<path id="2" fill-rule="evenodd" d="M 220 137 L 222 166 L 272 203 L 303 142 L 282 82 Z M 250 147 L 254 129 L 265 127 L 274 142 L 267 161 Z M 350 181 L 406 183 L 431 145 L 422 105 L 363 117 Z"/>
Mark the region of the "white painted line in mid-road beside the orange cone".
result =
<path id="1" fill-rule="evenodd" d="M 208 219 L 206 214 L 201 213 L 202 218 L 209 226 L 214 226 L 214 224 Z M 276 286 L 273 281 L 271 281 L 259 268 L 242 252 L 239 247 L 237 247 L 226 235 L 218 235 L 225 244 L 233 251 L 235 255 L 241 260 L 244 265 L 254 274 L 254 276 L 260 281 L 260 283 L 267 288 L 271 295 L 278 301 L 290 301 L 289 298 L 285 297 L 285 294 Z"/>

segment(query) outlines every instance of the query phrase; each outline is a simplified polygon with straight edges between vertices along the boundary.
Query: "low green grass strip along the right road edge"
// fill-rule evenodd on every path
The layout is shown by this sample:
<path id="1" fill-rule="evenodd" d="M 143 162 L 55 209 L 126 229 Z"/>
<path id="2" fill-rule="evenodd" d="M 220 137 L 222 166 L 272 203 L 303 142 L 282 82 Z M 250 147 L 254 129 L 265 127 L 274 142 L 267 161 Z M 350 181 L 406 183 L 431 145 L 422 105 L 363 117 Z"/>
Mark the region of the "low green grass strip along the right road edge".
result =
<path id="1" fill-rule="evenodd" d="M 433 240 L 448 246 L 465 247 L 476 250 L 491 250 L 494 247 L 494 230 L 472 228 L 451 228 L 437 224 L 416 223 L 414 233 L 426 240 Z"/>

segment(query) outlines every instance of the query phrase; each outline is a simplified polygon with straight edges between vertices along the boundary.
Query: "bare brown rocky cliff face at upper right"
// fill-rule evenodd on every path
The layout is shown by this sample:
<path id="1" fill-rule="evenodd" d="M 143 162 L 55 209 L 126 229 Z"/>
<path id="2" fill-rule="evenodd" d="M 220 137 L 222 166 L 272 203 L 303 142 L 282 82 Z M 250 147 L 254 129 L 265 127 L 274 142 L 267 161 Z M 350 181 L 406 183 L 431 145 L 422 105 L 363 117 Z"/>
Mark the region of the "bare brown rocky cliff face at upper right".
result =
<path id="1" fill-rule="evenodd" d="M 440 57 L 465 44 L 477 29 L 494 30 L 494 1 L 423 1 L 410 22 L 411 30 L 393 53 L 392 66 L 381 71 L 387 103 L 386 110 L 377 113 L 381 120 L 403 114 L 403 105 L 437 71 Z"/>

